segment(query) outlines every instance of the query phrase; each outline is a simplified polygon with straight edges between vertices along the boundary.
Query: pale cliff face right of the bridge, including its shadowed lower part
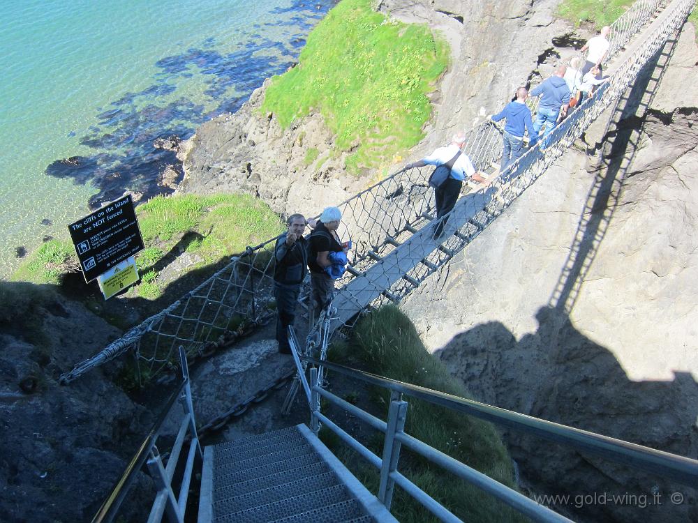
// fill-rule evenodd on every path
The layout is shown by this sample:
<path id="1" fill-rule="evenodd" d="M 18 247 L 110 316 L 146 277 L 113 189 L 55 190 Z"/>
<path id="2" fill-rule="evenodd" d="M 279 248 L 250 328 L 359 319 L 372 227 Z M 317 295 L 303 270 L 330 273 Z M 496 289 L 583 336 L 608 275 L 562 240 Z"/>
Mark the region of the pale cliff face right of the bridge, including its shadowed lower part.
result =
<path id="1" fill-rule="evenodd" d="M 666 51 L 668 67 L 660 60 L 644 71 L 628 104 L 611 106 L 402 308 L 483 401 L 695 457 L 698 97 L 685 89 L 698 81 L 693 26 Z M 649 75 L 661 76 L 658 87 Z M 688 487 L 517 432 L 507 440 L 532 492 L 639 497 L 553 507 L 576 509 L 575 520 L 637 521 L 640 509 L 651 521 L 698 519 Z M 669 500 L 675 492 L 681 503 Z M 653 496 L 662 504 L 641 506 Z"/>

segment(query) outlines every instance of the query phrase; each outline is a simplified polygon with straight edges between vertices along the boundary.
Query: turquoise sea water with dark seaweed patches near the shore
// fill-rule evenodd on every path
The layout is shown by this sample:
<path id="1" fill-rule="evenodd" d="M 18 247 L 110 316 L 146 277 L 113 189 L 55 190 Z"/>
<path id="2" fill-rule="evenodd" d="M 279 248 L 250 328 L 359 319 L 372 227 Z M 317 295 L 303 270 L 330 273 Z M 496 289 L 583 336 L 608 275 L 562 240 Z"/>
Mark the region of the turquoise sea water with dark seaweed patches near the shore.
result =
<path id="1" fill-rule="evenodd" d="M 237 110 L 335 3 L 4 1 L 0 277 L 90 206 L 154 195 L 175 163 L 154 140 Z"/>

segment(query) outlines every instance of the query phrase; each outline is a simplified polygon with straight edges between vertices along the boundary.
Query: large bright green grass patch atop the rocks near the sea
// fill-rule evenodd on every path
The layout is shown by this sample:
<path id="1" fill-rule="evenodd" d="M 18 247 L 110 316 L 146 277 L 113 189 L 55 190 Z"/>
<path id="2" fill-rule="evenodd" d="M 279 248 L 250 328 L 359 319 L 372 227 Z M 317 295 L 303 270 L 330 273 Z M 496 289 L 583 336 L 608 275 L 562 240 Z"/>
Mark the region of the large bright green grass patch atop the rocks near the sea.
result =
<path id="1" fill-rule="evenodd" d="M 350 172 L 392 163 L 417 144 L 431 115 L 426 93 L 448 60 L 426 25 L 403 24 L 343 0 L 311 31 L 295 68 L 272 78 L 262 111 L 283 128 L 319 110 Z"/>

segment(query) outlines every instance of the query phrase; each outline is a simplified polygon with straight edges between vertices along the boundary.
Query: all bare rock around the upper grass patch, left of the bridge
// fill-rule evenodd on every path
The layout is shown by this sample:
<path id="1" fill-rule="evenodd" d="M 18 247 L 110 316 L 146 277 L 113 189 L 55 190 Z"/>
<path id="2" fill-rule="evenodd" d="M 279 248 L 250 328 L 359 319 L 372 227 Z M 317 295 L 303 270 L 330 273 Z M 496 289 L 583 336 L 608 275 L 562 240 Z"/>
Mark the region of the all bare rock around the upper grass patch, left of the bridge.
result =
<path id="1" fill-rule="evenodd" d="M 435 110 L 424 128 L 426 137 L 410 152 L 410 159 L 421 158 L 447 142 L 455 130 L 469 129 L 499 110 L 517 86 L 547 75 L 551 38 L 570 30 L 553 19 L 557 3 L 377 3 L 378 10 L 403 22 L 429 24 L 451 45 L 450 66 L 429 96 Z M 181 147 L 185 179 L 179 192 L 250 192 L 276 212 L 314 215 L 376 181 L 371 172 L 348 174 L 348 153 L 329 158 L 320 167 L 307 162 L 309 149 L 318 149 L 320 155 L 334 149 L 334 135 L 319 113 L 282 129 L 273 114 L 261 110 L 268 85 L 269 80 L 235 114 L 202 125 Z"/>

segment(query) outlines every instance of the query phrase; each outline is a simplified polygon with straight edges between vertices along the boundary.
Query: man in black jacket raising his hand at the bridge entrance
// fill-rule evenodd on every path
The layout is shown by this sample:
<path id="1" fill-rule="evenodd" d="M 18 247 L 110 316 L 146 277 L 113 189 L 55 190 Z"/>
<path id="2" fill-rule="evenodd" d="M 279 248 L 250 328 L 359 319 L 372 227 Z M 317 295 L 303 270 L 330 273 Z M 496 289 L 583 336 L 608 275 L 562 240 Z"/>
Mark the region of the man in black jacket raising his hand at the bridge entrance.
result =
<path id="1" fill-rule="evenodd" d="M 308 267 L 308 248 L 303 232 L 306 219 L 292 214 L 286 220 L 288 231 L 279 236 L 274 247 L 274 297 L 276 298 L 276 341 L 279 352 L 291 354 L 288 326 L 296 318 L 296 305 Z"/>

